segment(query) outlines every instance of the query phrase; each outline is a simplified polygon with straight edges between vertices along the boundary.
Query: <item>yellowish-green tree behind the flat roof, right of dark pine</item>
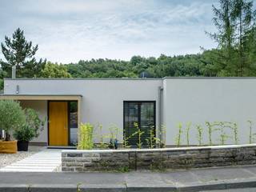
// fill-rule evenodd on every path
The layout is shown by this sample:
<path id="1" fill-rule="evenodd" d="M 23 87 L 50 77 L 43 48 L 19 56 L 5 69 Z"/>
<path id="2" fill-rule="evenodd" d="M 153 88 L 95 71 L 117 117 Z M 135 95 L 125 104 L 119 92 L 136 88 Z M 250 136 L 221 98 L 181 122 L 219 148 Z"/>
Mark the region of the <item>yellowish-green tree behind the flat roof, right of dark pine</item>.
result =
<path id="1" fill-rule="evenodd" d="M 66 66 L 58 63 L 47 62 L 42 70 L 42 78 L 71 78 Z"/>

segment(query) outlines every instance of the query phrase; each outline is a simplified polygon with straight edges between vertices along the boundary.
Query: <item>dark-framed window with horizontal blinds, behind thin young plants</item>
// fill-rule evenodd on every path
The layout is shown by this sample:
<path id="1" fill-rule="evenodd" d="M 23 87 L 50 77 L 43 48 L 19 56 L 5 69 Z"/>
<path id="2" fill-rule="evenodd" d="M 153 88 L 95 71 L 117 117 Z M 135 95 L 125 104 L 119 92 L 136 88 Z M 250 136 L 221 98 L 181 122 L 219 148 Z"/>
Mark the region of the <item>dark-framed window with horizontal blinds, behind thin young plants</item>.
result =
<path id="1" fill-rule="evenodd" d="M 142 146 L 155 136 L 155 102 L 124 102 L 124 138 L 129 146 L 138 146 L 138 130 Z M 153 135 L 152 135 L 153 134 Z"/>

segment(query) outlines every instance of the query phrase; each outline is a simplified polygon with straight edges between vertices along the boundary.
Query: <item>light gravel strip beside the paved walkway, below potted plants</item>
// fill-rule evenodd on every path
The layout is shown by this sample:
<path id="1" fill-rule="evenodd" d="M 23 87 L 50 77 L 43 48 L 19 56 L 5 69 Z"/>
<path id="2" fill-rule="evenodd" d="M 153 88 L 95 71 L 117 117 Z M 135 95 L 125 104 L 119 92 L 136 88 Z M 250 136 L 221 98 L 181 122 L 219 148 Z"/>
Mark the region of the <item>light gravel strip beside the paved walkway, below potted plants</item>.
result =
<path id="1" fill-rule="evenodd" d="M 18 151 L 17 154 L 0 154 L 0 167 L 10 165 L 11 163 L 22 160 L 23 158 L 27 158 L 45 148 L 45 146 L 29 146 L 29 151 Z"/>

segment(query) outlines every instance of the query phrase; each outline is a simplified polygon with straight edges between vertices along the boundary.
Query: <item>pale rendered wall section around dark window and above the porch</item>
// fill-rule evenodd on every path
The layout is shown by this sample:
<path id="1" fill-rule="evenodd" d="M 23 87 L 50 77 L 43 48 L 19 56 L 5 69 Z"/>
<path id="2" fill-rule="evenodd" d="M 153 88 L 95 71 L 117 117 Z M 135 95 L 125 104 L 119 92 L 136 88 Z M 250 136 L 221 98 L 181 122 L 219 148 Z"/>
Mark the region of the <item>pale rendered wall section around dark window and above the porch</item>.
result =
<path id="1" fill-rule="evenodd" d="M 19 94 L 82 94 L 82 122 L 95 126 L 101 123 L 103 134 L 109 133 L 109 126 L 115 124 L 120 127 L 119 142 L 122 142 L 123 101 L 156 101 L 158 125 L 158 86 L 162 86 L 162 79 L 10 79 L 5 81 L 4 93 L 16 94 L 17 85 Z"/>

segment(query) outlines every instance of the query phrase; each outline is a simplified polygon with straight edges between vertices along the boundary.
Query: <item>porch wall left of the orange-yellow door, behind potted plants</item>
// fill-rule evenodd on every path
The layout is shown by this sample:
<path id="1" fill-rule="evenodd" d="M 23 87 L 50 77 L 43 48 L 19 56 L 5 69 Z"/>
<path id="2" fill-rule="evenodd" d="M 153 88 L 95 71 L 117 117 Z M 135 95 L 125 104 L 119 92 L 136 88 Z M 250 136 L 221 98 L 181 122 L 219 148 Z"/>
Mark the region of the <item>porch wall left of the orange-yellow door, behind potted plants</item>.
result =
<path id="1" fill-rule="evenodd" d="M 38 111 L 39 117 L 44 120 L 47 120 L 47 101 L 21 101 L 20 105 L 22 108 L 31 108 Z M 44 129 L 38 136 L 38 138 L 34 138 L 31 142 L 44 142 L 47 143 L 48 139 L 48 130 L 47 130 L 47 121 L 45 122 Z"/>

